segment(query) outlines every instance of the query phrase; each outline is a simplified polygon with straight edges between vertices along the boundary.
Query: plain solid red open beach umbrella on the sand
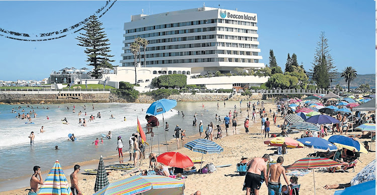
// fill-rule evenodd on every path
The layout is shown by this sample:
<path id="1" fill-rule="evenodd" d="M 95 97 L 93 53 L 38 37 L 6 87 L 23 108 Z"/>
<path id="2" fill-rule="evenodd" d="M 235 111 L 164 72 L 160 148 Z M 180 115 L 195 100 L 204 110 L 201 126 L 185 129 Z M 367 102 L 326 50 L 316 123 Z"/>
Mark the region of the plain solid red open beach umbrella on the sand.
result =
<path id="1" fill-rule="evenodd" d="M 161 162 L 167 166 L 185 168 L 194 166 L 193 161 L 184 154 L 179 152 L 165 152 L 157 156 L 157 162 Z"/>

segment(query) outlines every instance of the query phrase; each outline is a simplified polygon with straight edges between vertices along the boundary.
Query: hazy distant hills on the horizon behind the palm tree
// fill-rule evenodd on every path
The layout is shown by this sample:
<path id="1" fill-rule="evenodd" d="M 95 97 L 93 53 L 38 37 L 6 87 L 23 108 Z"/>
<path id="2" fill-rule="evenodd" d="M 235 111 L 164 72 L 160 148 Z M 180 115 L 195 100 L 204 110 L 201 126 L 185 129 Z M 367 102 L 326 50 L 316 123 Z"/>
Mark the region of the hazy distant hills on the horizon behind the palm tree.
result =
<path id="1" fill-rule="evenodd" d="M 337 78 L 332 80 L 331 85 L 334 86 L 336 84 L 340 84 L 341 86 L 347 86 L 347 83 L 344 81 L 344 79 L 340 77 L 340 72 L 338 72 L 336 75 L 337 75 Z M 312 77 L 309 76 L 309 79 L 312 79 Z M 366 84 L 366 83 L 368 83 L 369 86 L 371 87 L 372 86 L 375 87 L 375 74 L 357 74 L 356 79 L 352 81 L 349 86 L 358 87 L 361 84 Z"/>

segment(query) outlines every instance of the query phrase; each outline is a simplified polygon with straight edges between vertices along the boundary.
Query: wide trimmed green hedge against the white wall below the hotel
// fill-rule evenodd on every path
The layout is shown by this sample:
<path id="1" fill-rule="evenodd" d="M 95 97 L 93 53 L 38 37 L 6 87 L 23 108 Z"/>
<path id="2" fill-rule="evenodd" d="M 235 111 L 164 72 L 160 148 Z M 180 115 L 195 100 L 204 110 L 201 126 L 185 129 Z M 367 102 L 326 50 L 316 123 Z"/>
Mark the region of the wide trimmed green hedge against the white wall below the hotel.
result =
<path id="1" fill-rule="evenodd" d="M 187 76 L 184 74 L 168 74 L 153 78 L 151 84 L 157 87 L 184 87 L 186 86 Z"/>

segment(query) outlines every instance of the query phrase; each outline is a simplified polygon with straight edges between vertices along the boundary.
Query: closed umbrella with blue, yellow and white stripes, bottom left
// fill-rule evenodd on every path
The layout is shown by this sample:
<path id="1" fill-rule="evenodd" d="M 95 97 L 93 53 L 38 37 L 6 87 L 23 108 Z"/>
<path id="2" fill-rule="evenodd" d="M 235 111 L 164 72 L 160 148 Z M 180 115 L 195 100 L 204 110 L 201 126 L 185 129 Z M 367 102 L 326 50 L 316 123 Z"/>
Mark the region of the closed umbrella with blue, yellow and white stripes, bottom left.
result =
<path id="1" fill-rule="evenodd" d="M 38 191 L 38 195 L 71 195 L 72 191 L 69 187 L 67 178 L 58 160 L 55 161 L 50 172 L 48 172 L 45 181 Z"/>

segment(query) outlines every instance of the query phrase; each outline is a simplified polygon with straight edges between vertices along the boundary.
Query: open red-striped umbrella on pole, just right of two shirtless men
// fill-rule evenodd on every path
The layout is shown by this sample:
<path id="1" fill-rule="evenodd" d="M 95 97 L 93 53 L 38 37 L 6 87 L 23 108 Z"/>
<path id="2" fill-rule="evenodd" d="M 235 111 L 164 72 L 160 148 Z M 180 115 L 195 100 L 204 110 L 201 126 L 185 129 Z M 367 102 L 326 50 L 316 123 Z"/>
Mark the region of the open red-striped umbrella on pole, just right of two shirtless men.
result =
<path id="1" fill-rule="evenodd" d="M 314 178 L 314 169 L 315 168 L 328 168 L 328 167 L 334 167 L 334 166 L 341 166 L 341 164 L 328 158 L 306 157 L 291 164 L 291 166 L 288 167 L 287 170 L 313 169 L 314 194 L 316 194 L 316 181 Z"/>

